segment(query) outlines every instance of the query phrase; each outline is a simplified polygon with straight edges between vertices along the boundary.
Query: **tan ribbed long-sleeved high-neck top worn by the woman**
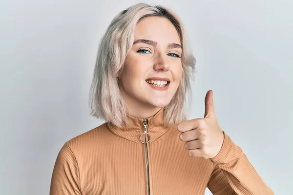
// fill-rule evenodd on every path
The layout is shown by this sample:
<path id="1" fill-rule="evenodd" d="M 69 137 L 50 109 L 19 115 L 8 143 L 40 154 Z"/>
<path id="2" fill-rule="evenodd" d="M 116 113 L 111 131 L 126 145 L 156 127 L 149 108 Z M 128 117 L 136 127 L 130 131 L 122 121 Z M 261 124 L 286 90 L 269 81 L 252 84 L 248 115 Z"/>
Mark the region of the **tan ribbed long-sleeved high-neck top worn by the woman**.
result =
<path id="1" fill-rule="evenodd" d="M 148 118 L 151 195 L 273 195 L 241 148 L 224 133 L 213 159 L 188 156 L 175 126 L 164 127 L 164 109 Z M 143 119 L 110 123 L 67 141 L 54 166 L 50 195 L 147 195 L 146 157 L 139 137 Z"/>

